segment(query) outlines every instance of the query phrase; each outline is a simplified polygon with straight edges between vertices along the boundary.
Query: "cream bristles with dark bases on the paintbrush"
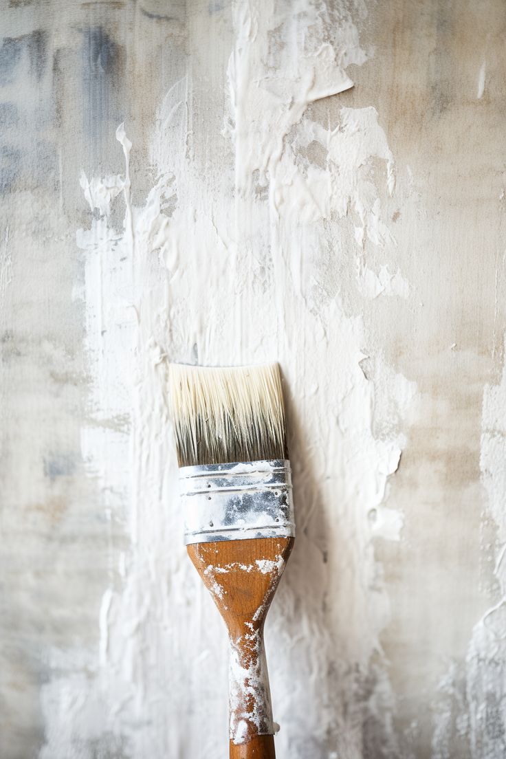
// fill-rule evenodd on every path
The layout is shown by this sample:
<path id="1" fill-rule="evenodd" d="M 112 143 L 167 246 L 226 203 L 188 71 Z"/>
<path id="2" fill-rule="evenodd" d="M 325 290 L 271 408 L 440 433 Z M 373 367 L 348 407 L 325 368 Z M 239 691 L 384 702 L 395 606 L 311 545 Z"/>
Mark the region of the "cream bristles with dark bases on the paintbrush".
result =
<path id="1" fill-rule="evenodd" d="M 288 458 L 278 364 L 169 367 L 180 467 Z"/>

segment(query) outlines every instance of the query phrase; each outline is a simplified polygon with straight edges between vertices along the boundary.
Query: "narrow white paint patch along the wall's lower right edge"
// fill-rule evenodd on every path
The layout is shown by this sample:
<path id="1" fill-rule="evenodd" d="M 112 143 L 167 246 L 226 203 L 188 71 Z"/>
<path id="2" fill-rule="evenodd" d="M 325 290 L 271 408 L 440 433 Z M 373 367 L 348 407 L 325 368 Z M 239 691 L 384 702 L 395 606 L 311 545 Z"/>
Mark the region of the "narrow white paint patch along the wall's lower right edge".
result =
<path id="1" fill-rule="evenodd" d="M 472 759 L 502 759 L 506 753 L 506 368 L 501 382 L 483 392 L 479 465 L 488 497 L 485 519 L 497 528 L 495 603 L 473 627 L 464 666 L 451 663 L 438 691 L 445 699 L 435 716 L 432 759 L 451 756 L 458 735 Z"/>

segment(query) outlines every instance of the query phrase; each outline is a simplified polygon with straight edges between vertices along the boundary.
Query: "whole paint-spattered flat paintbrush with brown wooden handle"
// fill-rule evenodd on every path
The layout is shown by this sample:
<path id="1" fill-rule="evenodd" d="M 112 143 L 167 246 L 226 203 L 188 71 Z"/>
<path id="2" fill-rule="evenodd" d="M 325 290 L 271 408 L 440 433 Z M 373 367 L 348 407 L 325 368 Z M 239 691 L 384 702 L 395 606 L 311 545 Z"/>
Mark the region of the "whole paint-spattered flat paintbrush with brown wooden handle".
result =
<path id="1" fill-rule="evenodd" d="M 294 507 L 277 364 L 171 364 L 169 396 L 190 559 L 230 640 L 230 757 L 275 757 L 263 643 L 294 545 Z"/>

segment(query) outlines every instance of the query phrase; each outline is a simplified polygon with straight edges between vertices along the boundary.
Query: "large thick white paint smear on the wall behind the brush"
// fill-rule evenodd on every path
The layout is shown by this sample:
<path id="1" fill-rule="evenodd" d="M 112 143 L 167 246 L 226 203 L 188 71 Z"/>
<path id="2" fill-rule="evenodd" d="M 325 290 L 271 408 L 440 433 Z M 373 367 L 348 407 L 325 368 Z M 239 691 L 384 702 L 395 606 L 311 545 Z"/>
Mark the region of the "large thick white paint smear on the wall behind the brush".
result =
<path id="1" fill-rule="evenodd" d="M 223 134 L 209 125 L 206 156 L 187 121 L 188 76 L 153 125 L 156 181 L 144 203 L 130 198 L 127 124 L 117 132 L 124 175 L 81 176 L 96 210 L 77 231 L 91 373 L 82 449 L 105 516 L 124 521 L 126 547 L 110 548 L 97 649 L 66 670 L 58 662 L 73 653 L 53 652 L 41 759 L 227 751 L 225 628 L 184 550 L 169 359 L 277 360 L 284 373 L 298 537 L 266 630 L 279 755 L 358 757 L 370 720 L 396 751 L 374 539 L 401 534 L 388 483 L 416 387 L 377 351 L 364 353 L 358 291 L 350 313 L 329 286 L 338 251 L 353 260 L 372 245 L 394 256 L 382 207 L 394 159 L 372 106 L 342 107 L 336 124 L 310 113 L 350 87 L 346 66 L 366 59 L 344 11 L 309 0 L 231 8 L 228 115 Z M 190 55 L 199 44 L 188 42 Z M 400 272 L 376 276 L 382 291 L 406 297 Z M 367 298 L 376 286 L 364 285 Z"/>

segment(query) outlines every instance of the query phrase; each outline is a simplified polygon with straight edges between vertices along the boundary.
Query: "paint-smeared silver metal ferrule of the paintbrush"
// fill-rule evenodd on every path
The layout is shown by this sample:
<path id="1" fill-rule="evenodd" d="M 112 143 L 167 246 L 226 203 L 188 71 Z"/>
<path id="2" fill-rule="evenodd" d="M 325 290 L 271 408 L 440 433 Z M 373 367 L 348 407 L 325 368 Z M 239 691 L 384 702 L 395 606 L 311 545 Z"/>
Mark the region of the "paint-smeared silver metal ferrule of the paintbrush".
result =
<path id="1" fill-rule="evenodd" d="M 184 542 L 295 535 L 290 461 L 181 467 Z"/>

